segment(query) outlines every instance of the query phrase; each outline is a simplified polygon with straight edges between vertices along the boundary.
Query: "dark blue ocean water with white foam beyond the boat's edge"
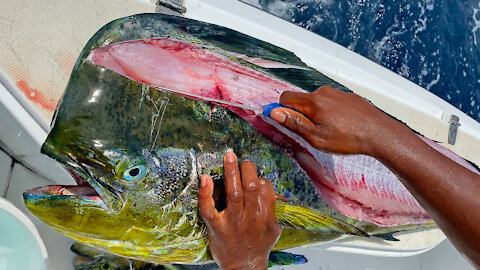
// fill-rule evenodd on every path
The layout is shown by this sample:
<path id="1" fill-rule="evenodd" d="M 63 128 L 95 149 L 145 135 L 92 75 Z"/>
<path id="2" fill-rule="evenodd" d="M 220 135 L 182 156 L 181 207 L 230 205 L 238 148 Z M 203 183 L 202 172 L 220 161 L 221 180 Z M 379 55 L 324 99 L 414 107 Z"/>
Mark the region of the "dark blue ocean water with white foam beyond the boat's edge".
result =
<path id="1" fill-rule="evenodd" d="M 396 72 L 480 122 L 480 0 L 241 0 Z"/>

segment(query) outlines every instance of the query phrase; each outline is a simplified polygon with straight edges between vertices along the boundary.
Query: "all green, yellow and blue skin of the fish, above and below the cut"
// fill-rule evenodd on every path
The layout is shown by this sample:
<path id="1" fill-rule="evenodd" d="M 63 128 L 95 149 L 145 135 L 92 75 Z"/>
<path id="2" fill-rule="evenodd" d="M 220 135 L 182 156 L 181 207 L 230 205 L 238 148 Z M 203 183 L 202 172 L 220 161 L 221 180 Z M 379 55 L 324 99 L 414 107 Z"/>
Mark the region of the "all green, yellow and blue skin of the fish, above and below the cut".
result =
<path id="1" fill-rule="evenodd" d="M 228 43 L 225 35 L 231 37 Z M 196 209 L 195 180 L 209 173 L 221 181 L 221 157 L 227 148 L 233 148 L 240 159 L 248 158 L 259 165 L 259 174 L 272 181 L 277 194 L 308 207 L 303 208 L 306 212 L 313 209 L 335 218 L 327 218 L 336 226 L 331 231 L 315 223 L 304 224 L 309 229 L 285 227 L 276 249 L 331 241 L 348 232 L 364 234 L 348 224 L 359 224 L 371 233 L 397 229 L 358 223 L 330 208 L 317 196 L 307 176 L 308 166 L 300 168 L 291 159 L 298 159 L 302 153 L 314 157 L 311 149 L 294 135 L 280 133 L 281 127 L 269 119 L 156 91 L 87 60 L 92 50 L 113 43 L 166 37 L 225 51 L 233 51 L 231 44 L 235 43 L 235 53 L 305 66 L 288 51 L 185 18 L 141 14 L 106 25 L 90 39 L 77 60 L 42 146 L 43 153 L 88 181 L 101 200 L 87 198 L 91 194 L 49 195 L 50 191 L 38 188 L 24 193 L 32 213 L 77 241 L 121 256 L 161 264 L 209 262 L 205 228 Z M 325 84 L 346 90 L 315 70 L 267 71 L 238 63 L 308 91 Z M 176 163 L 163 166 L 165 161 L 159 162 L 162 158 Z M 125 164 L 145 166 L 145 180 L 129 183 L 122 179 L 125 169 L 133 168 Z M 165 168 L 178 170 L 165 174 Z M 155 196 L 156 191 L 161 196 Z"/>

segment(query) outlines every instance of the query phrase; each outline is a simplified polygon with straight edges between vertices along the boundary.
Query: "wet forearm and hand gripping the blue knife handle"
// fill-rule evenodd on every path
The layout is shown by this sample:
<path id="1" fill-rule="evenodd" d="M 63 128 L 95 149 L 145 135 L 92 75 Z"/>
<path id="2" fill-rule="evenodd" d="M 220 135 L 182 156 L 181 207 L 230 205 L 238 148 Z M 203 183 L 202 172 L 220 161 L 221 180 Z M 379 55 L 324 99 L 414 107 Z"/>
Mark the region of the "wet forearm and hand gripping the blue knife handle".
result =
<path id="1" fill-rule="evenodd" d="M 276 108 L 272 119 L 313 147 L 370 155 L 387 166 L 453 245 L 480 269 L 480 175 L 433 149 L 356 94 L 324 86 L 314 93 L 284 92 L 280 104 L 294 110 Z M 308 154 L 298 155 L 297 160 L 316 162 Z"/>

